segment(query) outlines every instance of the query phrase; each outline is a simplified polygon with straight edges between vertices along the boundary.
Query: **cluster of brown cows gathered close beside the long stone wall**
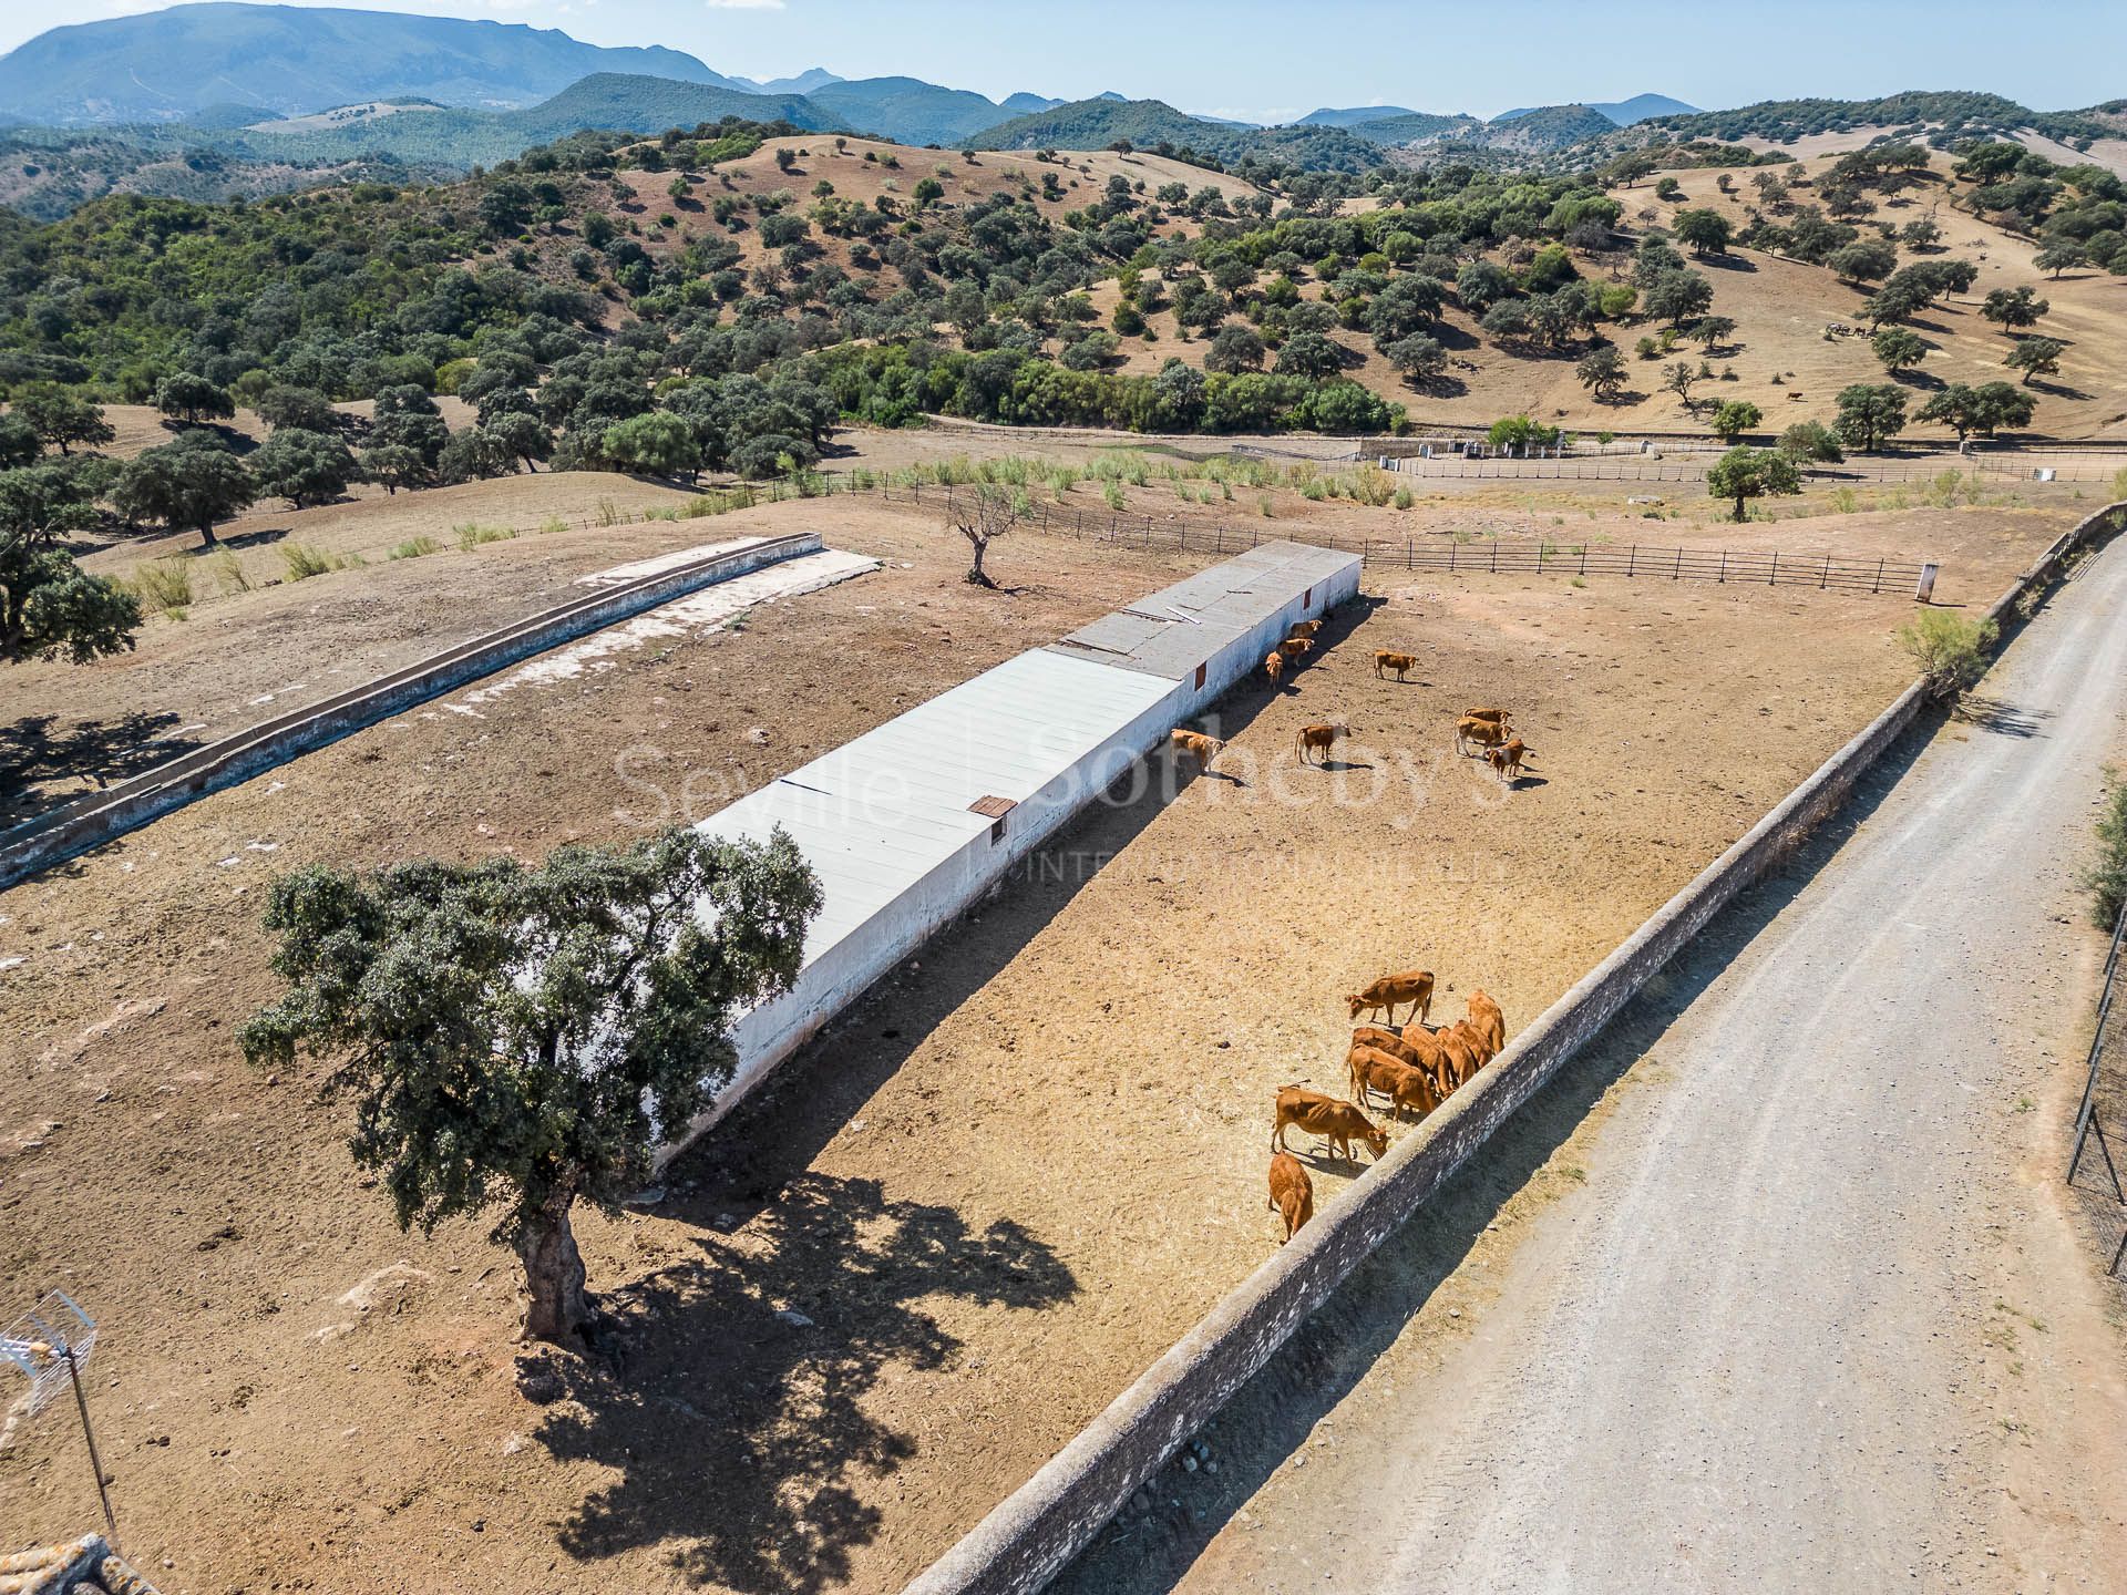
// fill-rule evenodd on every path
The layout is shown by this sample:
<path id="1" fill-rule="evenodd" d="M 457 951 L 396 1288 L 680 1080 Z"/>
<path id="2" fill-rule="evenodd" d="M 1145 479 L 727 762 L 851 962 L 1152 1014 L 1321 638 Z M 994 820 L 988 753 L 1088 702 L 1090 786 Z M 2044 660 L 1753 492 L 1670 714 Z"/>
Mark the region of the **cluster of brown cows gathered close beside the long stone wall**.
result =
<path id="1" fill-rule="evenodd" d="M 1468 997 L 1468 1012 L 1453 1025 L 1431 1027 L 1434 976 L 1429 970 L 1385 974 L 1366 991 L 1344 997 L 1351 1019 L 1376 1012 L 1387 1025 L 1359 1025 L 1351 1034 L 1344 1068 L 1351 1072 L 1351 1093 L 1344 1102 L 1304 1085 L 1278 1087 L 1276 1116 L 1270 1127 L 1270 1206 L 1285 1219 L 1285 1238 L 1314 1216 L 1314 1182 L 1306 1168 L 1285 1151 L 1285 1131 L 1297 1125 L 1321 1136 L 1332 1153 L 1351 1159 L 1353 1142 L 1366 1146 L 1378 1161 L 1389 1151 L 1387 1131 L 1366 1116 L 1374 1097 L 1387 1097 L 1389 1114 L 1406 1110 L 1423 1119 L 1472 1074 L 1491 1063 L 1506 1046 L 1506 1014 L 1483 989 Z M 1395 1010 L 1410 1004 L 1410 1019 L 1395 1025 Z"/>

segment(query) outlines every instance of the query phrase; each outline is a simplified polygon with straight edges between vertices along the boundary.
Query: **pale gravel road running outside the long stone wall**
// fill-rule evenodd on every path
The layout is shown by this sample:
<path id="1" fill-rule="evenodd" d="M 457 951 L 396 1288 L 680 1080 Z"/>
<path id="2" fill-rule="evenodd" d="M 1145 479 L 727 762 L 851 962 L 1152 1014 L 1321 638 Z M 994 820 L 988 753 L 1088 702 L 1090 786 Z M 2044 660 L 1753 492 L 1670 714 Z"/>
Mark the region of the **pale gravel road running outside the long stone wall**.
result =
<path id="1" fill-rule="evenodd" d="M 1421 1214 L 1064 1586 L 2121 1589 L 2055 1157 L 2127 547 L 1982 693 L 1561 1080 L 1593 1125 L 1508 1138 L 1565 1195 Z"/>

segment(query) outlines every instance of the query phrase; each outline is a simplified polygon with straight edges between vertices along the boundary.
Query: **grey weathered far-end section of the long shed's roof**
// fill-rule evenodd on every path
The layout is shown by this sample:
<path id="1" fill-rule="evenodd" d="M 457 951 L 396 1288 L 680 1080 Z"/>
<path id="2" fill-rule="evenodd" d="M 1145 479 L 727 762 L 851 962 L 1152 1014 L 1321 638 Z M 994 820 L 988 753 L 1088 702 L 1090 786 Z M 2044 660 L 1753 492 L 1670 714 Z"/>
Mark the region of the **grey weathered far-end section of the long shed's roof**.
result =
<path id="1" fill-rule="evenodd" d="M 1353 555 L 1336 549 L 1263 542 L 1081 625 L 1046 653 L 1183 681 L 1227 642 L 1351 561 Z"/>

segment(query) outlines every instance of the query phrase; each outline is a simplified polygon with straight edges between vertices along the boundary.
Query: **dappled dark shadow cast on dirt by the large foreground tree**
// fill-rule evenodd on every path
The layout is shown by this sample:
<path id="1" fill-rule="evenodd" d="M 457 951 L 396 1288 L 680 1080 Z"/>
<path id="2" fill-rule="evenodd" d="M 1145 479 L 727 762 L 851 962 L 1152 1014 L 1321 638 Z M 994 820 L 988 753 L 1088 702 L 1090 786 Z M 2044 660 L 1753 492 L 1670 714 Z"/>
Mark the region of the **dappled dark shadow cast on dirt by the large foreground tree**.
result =
<path id="1" fill-rule="evenodd" d="M 708 1204 L 681 1204 L 702 1221 Z M 876 1180 L 802 1174 L 742 1240 L 600 1299 L 598 1361 L 559 1359 L 564 1401 L 538 1442 L 619 1474 L 562 1525 L 579 1561 L 668 1546 L 696 1584 L 808 1595 L 851 1576 L 883 1514 L 859 1480 L 915 1435 L 866 1412 L 887 1370 L 951 1370 L 961 1342 L 932 1306 L 1038 1310 L 1078 1291 L 1055 1250 L 1000 1219 L 887 1199 Z"/>

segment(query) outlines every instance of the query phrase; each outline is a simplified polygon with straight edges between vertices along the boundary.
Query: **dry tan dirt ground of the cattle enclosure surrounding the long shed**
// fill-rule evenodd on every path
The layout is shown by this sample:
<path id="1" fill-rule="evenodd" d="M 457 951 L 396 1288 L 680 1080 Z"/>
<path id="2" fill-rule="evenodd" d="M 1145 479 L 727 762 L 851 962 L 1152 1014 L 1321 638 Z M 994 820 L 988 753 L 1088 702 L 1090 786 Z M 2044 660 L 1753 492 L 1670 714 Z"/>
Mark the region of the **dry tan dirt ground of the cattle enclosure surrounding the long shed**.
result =
<path id="1" fill-rule="evenodd" d="M 2070 519 L 1802 532 L 1925 542 L 1944 602 L 1978 602 Z M 400 1236 L 315 1070 L 236 1055 L 272 995 L 264 885 L 311 859 L 536 855 L 708 812 L 1183 568 L 1027 534 L 993 557 L 1015 591 L 974 593 L 932 513 L 872 500 L 411 564 L 515 555 L 502 587 L 530 598 L 576 568 L 574 540 L 600 568 L 791 525 L 887 566 L 479 721 L 411 710 L 0 895 L 0 1291 L 62 1287 L 100 1314 L 121 1527 L 151 1569 L 168 1557 L 174 1595 L 442 1569 L 523 1591 L 898 1586 L 1270 1253 L 1268 1097 L 1336 1085 L 1336 993 L 1423 961 L 1444 1012 L 1485 985 L 1519 1029 L 1908 674 L 1893 600 L 1370 581 L 1314 668 L 1221 706 L 1219 774 L 1155 761 L 734 1112 L 661 1206 L 585 1216 L 621 1327 L 534 1406 L 510 1259 L 472 1223 Z M 317 578 L 374 600 L 374 642 L 321 653 L 268 608 L 253 625 L 283 602 L 268 589 L 223 600 L 230 657 L 300 681 L 389 653 L 391 604 L 357 587 L 376 570 Z M 1374 678 L 1376 647 L 1421 655 L 1408 685 Z M 208 693 L 213 674 L 172 681 Z M 1519 708 L 1536 749 L 1514 793 L 1448 746 L 1478 700 Z M 1340 768 L 1300 770 L 1295 727 L 1329 717 L 1353 729 Z M 1319 1197 L 1353 1174 L 1321 1165 Z M 19 1540 L 94 1518 L 62 1416 L 0 1453 Z"/>

